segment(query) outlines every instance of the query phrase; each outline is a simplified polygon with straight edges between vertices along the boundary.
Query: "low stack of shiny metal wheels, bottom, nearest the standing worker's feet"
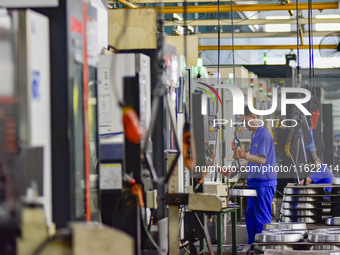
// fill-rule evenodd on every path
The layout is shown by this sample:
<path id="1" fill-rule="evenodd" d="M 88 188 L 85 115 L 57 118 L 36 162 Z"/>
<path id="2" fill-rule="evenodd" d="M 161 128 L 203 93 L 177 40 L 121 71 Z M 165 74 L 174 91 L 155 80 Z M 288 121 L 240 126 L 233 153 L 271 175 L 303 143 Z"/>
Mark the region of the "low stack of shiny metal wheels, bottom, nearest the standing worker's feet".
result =
<path id="1" fill-rule="evenodd" d="M 265 224 L 262 233 L 255 236 L 254 252 L 261 254 L 266 249 L 296 250 L 296 244 L 303 242 L 307 236 L 305 223 Z"/>

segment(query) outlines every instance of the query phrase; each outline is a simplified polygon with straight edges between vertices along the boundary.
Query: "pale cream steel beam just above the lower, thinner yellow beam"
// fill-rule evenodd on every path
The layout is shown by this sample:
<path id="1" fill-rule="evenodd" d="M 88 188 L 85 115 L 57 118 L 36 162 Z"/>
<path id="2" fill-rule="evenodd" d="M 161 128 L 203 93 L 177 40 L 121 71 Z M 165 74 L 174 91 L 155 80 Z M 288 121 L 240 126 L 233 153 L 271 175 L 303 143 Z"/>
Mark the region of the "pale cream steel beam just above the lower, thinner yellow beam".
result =
<path id="1" fill-rule="evenodd" d="M 334 31 L 313 31 L 313 37 L 324 37 Z M 196 34 L 198 39 L 216 39 L 217 33 L 201 33 Z M 231 33 L 221 33 L 221 38 L 231 38 Z M 296 37 L 296 32 L 250 32 L 250 33 L 234 33 L 235 38 L 268 38 L 268 37 Z M 303 33 L 304 37 L 308 37 L 308 32 Z"/>

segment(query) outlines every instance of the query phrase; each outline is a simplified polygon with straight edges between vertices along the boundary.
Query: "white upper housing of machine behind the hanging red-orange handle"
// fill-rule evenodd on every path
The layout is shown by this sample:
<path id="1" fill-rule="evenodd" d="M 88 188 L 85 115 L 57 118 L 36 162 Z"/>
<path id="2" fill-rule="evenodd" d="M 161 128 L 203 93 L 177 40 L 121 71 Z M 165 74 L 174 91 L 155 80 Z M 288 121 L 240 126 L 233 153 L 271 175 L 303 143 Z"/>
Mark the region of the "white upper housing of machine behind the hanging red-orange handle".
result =
<path id="1" fill-rule="evenodd" d="M 98 114 L 99 134 L 123 132 L 122 110 L 125 77 L 139 76 L 140 122 L 147 129 L 151 118 L 150 58 L 140 53 L 106 53 L 99 55 Z"/>

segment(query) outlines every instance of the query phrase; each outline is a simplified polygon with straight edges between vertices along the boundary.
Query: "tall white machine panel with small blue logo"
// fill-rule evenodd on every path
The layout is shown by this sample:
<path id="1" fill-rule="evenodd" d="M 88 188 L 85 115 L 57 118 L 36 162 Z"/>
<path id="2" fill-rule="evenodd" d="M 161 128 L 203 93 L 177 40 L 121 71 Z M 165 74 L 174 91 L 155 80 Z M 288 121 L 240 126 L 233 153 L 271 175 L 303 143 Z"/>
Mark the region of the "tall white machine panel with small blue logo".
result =
<path id="1" fill-rule="evenodd" d="M 43 203 L 52 223 L 52 156 L 49 20 L 32 10 L 15 12 L 18 17 L 20 143 L 43 148 Z"/>

